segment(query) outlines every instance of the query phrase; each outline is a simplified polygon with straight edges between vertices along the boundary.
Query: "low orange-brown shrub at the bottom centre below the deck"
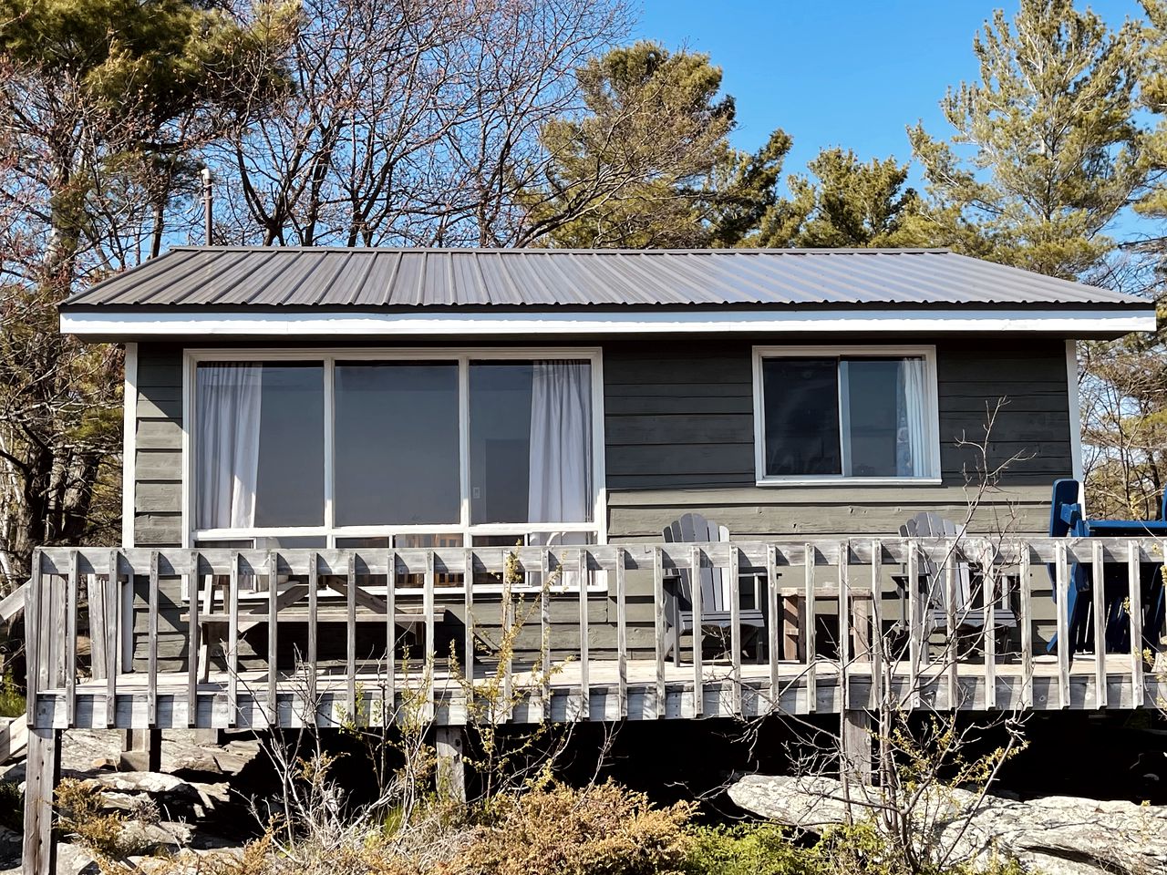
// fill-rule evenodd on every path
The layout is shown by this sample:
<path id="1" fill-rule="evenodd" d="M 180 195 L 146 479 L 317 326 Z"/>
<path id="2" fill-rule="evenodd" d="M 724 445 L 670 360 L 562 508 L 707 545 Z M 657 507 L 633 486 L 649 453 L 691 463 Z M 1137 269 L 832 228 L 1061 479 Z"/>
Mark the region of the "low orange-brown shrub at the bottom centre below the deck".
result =
<path id="1" fill-rule="evenodd" d="M 452 873 L 464 875 L 664 875 L 683 872 L 694 806 L 656 808 L 612 782 L 555 784 L 499 800 Z"/>

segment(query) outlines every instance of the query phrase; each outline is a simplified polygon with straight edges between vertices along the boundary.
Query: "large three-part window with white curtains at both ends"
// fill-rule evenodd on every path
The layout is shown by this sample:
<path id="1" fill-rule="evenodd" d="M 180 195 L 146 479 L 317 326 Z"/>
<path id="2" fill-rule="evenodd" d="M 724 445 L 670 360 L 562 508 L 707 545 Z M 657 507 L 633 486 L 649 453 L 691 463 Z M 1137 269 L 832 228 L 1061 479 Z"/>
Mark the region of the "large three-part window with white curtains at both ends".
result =
<path id="1" fill-rule="evenodd" d="M 196 355 L 193 541 L 594 544 L 593 360 Z"/>

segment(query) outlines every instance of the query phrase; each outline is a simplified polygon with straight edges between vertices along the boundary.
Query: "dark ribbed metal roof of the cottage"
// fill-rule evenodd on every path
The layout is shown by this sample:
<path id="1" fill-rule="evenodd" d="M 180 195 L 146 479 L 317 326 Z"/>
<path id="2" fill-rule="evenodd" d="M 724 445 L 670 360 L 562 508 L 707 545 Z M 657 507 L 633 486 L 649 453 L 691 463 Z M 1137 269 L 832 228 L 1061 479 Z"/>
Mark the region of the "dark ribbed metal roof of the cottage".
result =
<path id="1" fill-rule="evenodd" d="M 1140 306 L 944 250 L 179 247 L 85 292 L 88 307 Z"/>

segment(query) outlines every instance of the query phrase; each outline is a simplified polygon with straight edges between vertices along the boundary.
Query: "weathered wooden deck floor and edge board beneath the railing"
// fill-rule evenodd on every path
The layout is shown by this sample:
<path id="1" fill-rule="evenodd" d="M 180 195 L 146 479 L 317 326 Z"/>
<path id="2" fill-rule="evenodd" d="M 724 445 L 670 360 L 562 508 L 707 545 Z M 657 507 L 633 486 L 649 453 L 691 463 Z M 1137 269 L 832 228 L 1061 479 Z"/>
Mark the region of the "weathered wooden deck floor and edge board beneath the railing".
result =
<path id="1" fill-rule="evenodd" d="M 757 718 L 773 713 L 839 713 L 845 707 L 875 707 L 869 662 L 853 662 L 845 672 L 838 663 L 820 660 L 813 672 L 797 663 L 778 664 L 778 684 L 771 686 L 768 665 L 742 665 L 740 680 L 728 662 L 703 666 L 701 700 L 693 696 L 692 667 L 666 665 L 664 695 L 657 686 L 656 663 L 633 659 L 626 664 L 626 678 L 620 678 L 619 664 L 595 660 L 587 668 L 587 688 L 582 686 L 579 663 L 557 666 L 546 691 L 534 682 L 530 672 L 512 676 L 516 695 L 505 713 L 485 715 L 467 706 L 464 679 L 448 673 L 433 676 L 432 716 L 438 724 L 462 724 L 468 720 L 494 719 L 496 722 L 534 723 L 593 720 L 692 720 L 698 718 Z M 883 666 L 883 678 L 888 678 Z M 1056 656 L 1033 659 L 1032 674 L 1026 676 L 1019 662 L 1000 663 L 986 678 L 984 665 L 957 664 L 955 672 L 924 673 L 915 681 L 908 663 L 896 664 L 890 672 L 890 692 L 907 705 L 918 691 L 915 707 L 935 710 L 1058 710 L 1058 709 L 1128 709 L 1153 705 L 1167 694 L 1167 685 L 1151 674 L 1144 680 L 1141 694 L 1135 691 L 1130 656 L 1111 654 L 1106 659 L 1105 693 L 1099 696 L 1097 659 L 1092 654 L 1075 658 L 1068 684 L 1061 685 Z M 477 672 L 480 688 L 489 682 L 485 672 Z M 840 676 L 845 676 L 846 695 Z M 357 699 L 350 701 L 348 676 L 320 673 L 315 696 L 309 696 L 301 677 L 284 678 L 277 684 L 275 710 L 272 710 L 266 672 L 242 672 L 235 706 L 230 704 L 226 673 L 212 673 L 197 685 L 191 710 L 184 678 L 161 676 L 154 692 L 154 724 L 163 727 L 252 728 L 273 726 L 300 727 L 315 723 L 321 728 L 338 727 L 356 715 L 356 722 L 378 724 L 400 718 L 407 702 L 417 702 L 426 693 L 426 684 L 417 673 L 398 673 L 390 704 L 384 672 L 356 676 Z M 987 705 L 992 684 L 994 705 Z M 37 726 L 64 729 L 69 726 L 105 728 L 107 723 L 105 681 L 88 681 L 75 687 L 76 696 L 70 722 L 65 693 L 46 691 L 37 696 Z M 145 674 L 124 674 L 118 679 L 112 726 L 119 729 L 148 726 L 151 692 Z"/>

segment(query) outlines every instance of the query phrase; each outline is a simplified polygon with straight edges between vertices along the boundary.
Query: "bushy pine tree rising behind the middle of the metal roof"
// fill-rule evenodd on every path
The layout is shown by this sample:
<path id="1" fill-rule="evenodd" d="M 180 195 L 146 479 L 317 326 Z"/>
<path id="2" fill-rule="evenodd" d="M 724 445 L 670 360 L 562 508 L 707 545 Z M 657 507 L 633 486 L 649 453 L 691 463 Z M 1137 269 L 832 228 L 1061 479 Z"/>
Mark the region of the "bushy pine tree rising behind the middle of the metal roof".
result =
<path id="1" fill-rule="evenodd" d="M 531 239 L 558 246 L 734 245 L 774 203 L 790 139 L 756 153 L 729 145 L 735 108 L 707 55 L 651 42 L 579 71 L 580 119 L 557 119 L 545 187 L 527 192 Z"/>

